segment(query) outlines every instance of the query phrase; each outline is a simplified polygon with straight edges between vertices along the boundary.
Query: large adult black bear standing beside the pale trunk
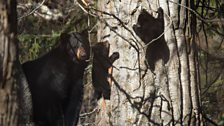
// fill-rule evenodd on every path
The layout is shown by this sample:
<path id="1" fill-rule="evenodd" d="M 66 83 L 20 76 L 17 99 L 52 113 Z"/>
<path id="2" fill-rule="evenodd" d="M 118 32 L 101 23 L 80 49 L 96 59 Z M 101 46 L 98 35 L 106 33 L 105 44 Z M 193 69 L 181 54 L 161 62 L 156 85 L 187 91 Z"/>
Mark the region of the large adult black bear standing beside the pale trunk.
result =
<path id="1" fill-rule="evenodd" d="M 77 125 L 90 50 L 87 38 L 86 32 L 62 33 L 55 49 L 23 64 L 38 126 Z"/>

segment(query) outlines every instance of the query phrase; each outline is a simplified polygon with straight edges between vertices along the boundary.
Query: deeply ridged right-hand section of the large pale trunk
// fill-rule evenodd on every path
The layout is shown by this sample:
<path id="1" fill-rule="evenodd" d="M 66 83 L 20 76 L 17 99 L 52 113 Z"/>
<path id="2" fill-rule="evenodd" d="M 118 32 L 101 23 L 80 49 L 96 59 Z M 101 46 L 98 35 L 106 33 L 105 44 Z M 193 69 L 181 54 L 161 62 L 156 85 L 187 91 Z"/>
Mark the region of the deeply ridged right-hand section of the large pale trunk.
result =
<path id="1" fill-rule="evenodd" d="M 193 0 L 160 2 L 167 14 L 165 39 L 170 49 L 168 84 L 174 125 L 203 125 L 194 46 L 196 17 L 188 9 L 194 10 L 193 4 Z"/>

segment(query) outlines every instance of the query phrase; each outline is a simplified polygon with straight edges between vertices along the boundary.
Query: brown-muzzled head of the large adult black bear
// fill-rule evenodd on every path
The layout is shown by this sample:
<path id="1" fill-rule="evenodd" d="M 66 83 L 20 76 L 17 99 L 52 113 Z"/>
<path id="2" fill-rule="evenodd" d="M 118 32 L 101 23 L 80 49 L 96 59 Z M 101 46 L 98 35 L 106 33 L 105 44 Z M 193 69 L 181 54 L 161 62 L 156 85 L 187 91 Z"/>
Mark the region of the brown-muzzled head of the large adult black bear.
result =
<path id="1" fill-rule="evenodd" d="M 88 33 L 62 33 L 60 43 L 71 59 L 75 62 L 85 61 L 89 59 L 90 45 L 88 41 Z"/>

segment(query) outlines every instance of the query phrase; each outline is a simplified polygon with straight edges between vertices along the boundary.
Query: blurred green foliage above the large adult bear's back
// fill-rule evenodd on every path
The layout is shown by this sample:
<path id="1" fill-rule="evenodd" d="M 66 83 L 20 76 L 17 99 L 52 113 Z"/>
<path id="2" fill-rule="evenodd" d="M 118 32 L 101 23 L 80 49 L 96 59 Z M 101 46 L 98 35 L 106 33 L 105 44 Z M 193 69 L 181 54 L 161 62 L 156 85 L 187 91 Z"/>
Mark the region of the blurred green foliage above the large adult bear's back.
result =
<path id="1" fill-rule="evenodd" d="M 18 21 L 19 58 L 22 63 L 54 48 L 60 33 L 88 29 L 88 15 L 80 7 L 71 7 L 68 3 L 63 6 L 58 10 L 65 12 L 66 16 L 60 20 L 44 20 L 30 15 Z M 89 20 L 91 26 L 95 25 L 96 19 L 90 17 Z"/>

